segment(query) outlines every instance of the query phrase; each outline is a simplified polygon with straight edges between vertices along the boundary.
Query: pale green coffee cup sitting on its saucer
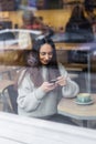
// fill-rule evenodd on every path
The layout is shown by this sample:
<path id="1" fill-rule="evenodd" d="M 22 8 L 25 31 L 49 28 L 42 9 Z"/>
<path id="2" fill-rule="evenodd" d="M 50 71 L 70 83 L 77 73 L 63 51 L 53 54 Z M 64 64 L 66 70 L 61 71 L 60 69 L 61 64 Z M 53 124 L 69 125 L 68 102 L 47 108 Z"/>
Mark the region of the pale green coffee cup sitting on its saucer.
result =
<path id="1" fill-rule="evenodd" d="M 77 101 L 81 102 L 81 103 L 90 102 L 92 101 L 90 94 L 89 93 L 79 93 L 77 95 Z"/>

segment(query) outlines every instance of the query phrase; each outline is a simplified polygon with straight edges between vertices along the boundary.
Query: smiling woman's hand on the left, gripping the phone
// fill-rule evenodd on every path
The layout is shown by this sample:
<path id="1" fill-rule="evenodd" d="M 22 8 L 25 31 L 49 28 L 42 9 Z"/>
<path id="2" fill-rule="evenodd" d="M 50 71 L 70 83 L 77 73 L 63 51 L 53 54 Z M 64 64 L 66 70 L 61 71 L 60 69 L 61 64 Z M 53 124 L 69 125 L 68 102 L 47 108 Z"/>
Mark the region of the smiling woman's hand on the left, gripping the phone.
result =
<path id="1" fill-rule="evenodd" d="M 50 92 L 50 91 L 54 90 L 55 88 L 56 88 L 55 83 L 49 83 L 49 82 L 43 82 L 43 84 L 41 85 L 41 89 L 44 92 Z"/>

